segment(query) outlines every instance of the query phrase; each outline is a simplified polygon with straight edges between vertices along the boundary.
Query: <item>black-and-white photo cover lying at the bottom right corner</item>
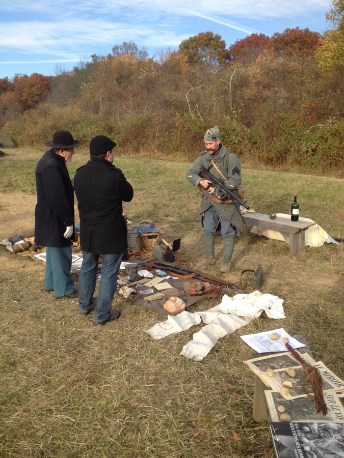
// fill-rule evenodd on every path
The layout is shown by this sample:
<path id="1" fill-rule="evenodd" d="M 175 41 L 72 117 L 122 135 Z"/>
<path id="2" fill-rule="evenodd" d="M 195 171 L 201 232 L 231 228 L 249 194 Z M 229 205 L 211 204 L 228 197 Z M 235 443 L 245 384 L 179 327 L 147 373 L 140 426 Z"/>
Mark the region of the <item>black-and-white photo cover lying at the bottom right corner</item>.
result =
<path id="1" fill-rule="evenodd" d="M 343 423 L 271 423 L 277 458 L 344 458 Z"/>

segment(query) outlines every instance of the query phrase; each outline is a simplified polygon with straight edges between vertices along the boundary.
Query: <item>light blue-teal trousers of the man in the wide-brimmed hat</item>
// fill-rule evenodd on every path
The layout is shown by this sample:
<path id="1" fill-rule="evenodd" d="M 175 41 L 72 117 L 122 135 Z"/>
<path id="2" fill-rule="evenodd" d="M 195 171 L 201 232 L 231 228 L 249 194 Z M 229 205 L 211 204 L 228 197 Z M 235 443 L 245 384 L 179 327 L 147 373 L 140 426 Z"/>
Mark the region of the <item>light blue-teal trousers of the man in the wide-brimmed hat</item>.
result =
<path id="1" fill-rule="evenodd" d="M 54 291 L 55 297 L 74 293 L 71 246 L 46 247 L 44 290 Z"/>

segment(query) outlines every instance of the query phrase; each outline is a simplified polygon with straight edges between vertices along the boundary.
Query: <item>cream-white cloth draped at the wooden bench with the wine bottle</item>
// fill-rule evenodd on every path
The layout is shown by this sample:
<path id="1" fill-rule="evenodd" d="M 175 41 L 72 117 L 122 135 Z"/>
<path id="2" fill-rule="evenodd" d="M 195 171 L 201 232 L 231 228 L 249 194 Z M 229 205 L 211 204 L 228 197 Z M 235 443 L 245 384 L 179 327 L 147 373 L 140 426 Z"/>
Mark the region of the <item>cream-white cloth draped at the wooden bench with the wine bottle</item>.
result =
<path id="1" fill-rule="evenodd" d="M 290 219 L 290 215 L 286 215 L 285 213 L 277 213 L 276 216 Z M 315 222 L 312 219 L 303 218 L 301 216 L 299 217 L 299 221 Z M 259 236 L 262 235 L 264 237 L 267 237 L 268 239 L 281 240 L 282 242 L 285 242 L 280 232 L 264 229 L 263 227 L 253 226 L 251 229 L 251 233 L 257 234 Z M 339 243 L 336 240 L 334 240 L 326 231 L 324 231 L 322 227 L 320 227 L 319 224 L 316 223 L 305 230 L 305 239 L 306 246 L 323 246 L 325 242 L 335 243 L 336 245 L 339 245 Z"/>

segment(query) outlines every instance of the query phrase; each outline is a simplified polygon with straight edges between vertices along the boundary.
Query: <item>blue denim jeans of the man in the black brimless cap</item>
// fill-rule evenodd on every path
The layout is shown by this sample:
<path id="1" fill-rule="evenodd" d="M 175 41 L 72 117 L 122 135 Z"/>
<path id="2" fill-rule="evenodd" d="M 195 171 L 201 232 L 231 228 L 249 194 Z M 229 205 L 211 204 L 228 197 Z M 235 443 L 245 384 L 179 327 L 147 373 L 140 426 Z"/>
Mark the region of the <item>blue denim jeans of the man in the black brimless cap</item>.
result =
<path id="1" fill-rule="evenodd" d="M 101 274 L 98 288 L 97 306 L 94 310 L 93 321 L 101 323 L 107 320 L 111 312 L 111 304 L 117 288 L 117 275 L 121 267 L 123 253 L 102 254 Z M 94 304 L 93 294 L 96 287 L 97 267 L 99 254 L 83 251 L 78 290 L 79 309 L 81 313 L 88 313 Z"/>

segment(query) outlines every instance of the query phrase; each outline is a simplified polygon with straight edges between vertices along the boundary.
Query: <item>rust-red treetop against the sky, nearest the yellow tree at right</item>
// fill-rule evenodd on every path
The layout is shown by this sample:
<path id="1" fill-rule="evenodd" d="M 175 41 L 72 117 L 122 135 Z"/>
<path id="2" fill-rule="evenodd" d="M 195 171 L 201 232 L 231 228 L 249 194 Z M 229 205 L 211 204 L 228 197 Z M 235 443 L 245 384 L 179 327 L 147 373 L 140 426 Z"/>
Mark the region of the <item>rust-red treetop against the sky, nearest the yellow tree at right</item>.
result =
<path id="1" fill-rule="evenodd" d="M 270 39 L 268 48 L 279 57 L 307 57 L 320 45 L 321 35 L 308 28 L 286 28 L 276 32 Z"/>

